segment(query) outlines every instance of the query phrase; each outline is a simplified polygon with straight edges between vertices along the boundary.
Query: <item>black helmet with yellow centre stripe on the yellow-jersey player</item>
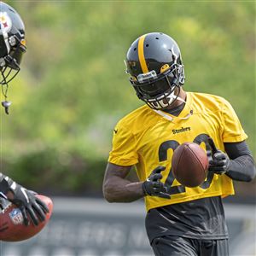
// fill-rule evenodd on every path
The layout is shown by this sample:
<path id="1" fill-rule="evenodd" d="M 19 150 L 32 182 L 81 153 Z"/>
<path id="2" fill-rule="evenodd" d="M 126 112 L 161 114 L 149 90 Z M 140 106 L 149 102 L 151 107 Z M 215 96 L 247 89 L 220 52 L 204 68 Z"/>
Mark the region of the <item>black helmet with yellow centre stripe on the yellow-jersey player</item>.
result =
<path id="1" fill-rule="evenodd" d="M 138 98 L 150 108 L 168 108 L 177 99 L 175 89 L 184 84 L 185 75 L 180 49 L 171 37 L 152 32 L 137 38 L 125 64 Z"/>

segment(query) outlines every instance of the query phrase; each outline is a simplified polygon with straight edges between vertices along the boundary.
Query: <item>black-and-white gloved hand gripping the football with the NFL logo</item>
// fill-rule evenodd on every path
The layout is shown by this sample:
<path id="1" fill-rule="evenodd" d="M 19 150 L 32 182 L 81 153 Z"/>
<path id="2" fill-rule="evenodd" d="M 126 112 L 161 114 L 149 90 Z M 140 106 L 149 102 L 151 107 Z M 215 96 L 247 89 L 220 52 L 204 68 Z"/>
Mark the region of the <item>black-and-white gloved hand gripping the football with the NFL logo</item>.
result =
<path id="1" fill-rule="evenodd" d="M 49 212 L 49 209 L 43 201 L 38 199 L 37 193 L 25 189 L 15 182 L 11 184 L 10 191 L 9 193 L 13 195 L 8 196 L 8 199 L 20 208 L 26 226 L 29 224 L 29 217 L 35 225 L 38 225 L 39 221 L 44 221 L 45 214 Z"/>

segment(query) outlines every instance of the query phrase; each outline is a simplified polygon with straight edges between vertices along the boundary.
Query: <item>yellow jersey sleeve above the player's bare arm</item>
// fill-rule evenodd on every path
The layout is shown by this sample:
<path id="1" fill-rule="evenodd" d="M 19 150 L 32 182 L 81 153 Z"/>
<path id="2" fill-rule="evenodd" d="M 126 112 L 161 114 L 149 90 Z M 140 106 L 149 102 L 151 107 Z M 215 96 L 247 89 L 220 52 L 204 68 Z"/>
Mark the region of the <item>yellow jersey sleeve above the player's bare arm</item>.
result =
<path id="1" fill-rule="evenodd" d="M 133 166 L 138 162 L 135 137 L 131 130 L 120 122 L 113 130 L 112 150 L 108 162 L 118 166 Z"/>

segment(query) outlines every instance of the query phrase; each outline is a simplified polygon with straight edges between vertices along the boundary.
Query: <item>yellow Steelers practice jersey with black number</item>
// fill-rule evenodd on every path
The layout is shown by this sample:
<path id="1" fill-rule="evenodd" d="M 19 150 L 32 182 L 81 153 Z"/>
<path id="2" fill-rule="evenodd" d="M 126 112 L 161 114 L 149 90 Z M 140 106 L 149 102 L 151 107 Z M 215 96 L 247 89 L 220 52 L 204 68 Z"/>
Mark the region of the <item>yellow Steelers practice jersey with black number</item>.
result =
<path id="1" fill-rule="evenodd" d="M 166 166 L 161 181 L 166 183 L 171 199 L 146 196 L 147 210 L 199 198 L 233 195 L 230 177 L 208 173 L 204 183 L 184 187 L 173 177 L 172 154 L 186 142 L 200 144 L 206 150 L 207 137 L 224 151 L 224 143 L 244 141 L 247 135 L 230 103 L 219 96 L 187 92 L 182 112 L 174 117 L 154 111 L 147 105 L 119 120 L 113 131 L 113 148 L 108 161 L 119 166 L 136 166 L 137 175 L 145 181 L 157 166 Z"/>

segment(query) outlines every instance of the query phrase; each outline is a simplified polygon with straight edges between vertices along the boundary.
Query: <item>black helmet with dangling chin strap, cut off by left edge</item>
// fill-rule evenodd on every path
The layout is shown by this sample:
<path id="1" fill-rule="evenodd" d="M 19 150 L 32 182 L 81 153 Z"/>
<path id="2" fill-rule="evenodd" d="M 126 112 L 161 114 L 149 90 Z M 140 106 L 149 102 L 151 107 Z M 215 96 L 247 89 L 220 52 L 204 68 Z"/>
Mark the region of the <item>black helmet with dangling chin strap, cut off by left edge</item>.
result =
<path id="1" fill-rule="evenodd" d="M 23 21 L 15 9 L 0 2 L 0 84 L 5 99 L 8 83 L 20 72 L 20 61 L 25 52 Z M 10 102 L 2 102 L 4 108 L 9 104 Z"/>

